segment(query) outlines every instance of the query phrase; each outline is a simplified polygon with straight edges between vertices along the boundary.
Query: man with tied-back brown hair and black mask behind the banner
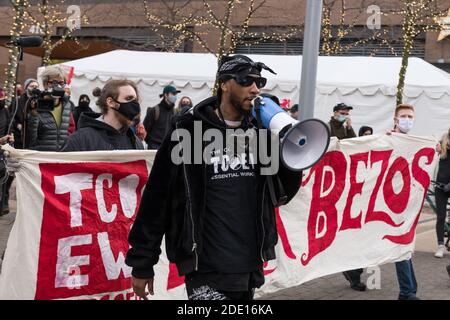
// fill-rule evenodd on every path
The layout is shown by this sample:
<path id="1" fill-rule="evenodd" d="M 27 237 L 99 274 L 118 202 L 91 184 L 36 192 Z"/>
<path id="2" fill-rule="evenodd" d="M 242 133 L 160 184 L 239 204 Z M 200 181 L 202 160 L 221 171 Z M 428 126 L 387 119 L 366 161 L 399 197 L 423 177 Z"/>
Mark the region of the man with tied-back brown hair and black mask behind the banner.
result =
<path id="1" fill-rule="evenodd" d="M 102 113 L 82 113 L 78 130 L 61 151 L 143 150 L 130 126 L 141 108 L 136 85 L 129 80 L 110 80 L 98 99 Z"/>

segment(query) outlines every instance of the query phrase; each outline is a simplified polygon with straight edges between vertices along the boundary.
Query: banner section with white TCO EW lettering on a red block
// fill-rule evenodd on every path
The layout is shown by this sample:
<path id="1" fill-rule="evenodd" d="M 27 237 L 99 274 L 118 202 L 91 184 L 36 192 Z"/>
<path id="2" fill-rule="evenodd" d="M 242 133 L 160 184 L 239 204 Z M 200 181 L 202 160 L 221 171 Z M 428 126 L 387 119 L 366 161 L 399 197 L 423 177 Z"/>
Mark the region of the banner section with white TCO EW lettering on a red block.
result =
<path id="1" fill-rule="evenodd" d="M 127 237 L 154 152 L 11 153 L 21 168 L 0 299 L 133 299 Z"/>

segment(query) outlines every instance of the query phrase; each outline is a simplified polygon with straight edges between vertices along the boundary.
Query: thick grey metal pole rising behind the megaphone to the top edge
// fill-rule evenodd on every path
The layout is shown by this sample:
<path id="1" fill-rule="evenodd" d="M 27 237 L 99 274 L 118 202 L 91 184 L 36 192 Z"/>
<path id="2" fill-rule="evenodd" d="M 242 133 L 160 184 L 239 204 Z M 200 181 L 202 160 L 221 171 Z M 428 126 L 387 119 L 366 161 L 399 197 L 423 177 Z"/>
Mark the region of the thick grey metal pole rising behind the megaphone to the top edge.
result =
<path id="1" fill-rule="evenodd" d="M 314 117 L 317 62 L 319 58 L 320 29 L 322 25 L 322 0 L 307 0 L 306 6 L 299 120 Z"/>

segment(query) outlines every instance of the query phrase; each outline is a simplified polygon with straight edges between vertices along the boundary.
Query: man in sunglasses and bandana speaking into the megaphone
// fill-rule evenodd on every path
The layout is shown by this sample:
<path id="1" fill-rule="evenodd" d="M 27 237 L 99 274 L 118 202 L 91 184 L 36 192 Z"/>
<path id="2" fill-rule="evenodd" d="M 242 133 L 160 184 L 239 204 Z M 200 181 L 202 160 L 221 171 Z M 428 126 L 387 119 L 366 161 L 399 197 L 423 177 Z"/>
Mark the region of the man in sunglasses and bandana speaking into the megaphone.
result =
<path id="1" fill-rule="evenodd" d="M 137 296 L 154 294 L 163 236 L 169 261 L 185 276 L 190 300 L 251 300 L 263 285 L 263 264 L 275 259 L 278 240 L 275 207 L 294 197 L 302 177 L 281 161 L 277 172 L 264 175 L 247 142 L 236 144 L 241 152 L 224 146 L 230 131 L 270 134 L 258 129 L 251 116 L 252 100 L 267 82 L 263 69 L 273 72 L 243 55 L 223 57 L 217 95 L 172 122 L 129 235 L 126 263 L 132 267 Z M 204 141 L 210 134 L 213 138 Z M 174 161 L 179 144 L 189 142 L 191 147 L 182 150 L 186 157 Z M 190 161 L 196 155 L 201 161 Z"/>

